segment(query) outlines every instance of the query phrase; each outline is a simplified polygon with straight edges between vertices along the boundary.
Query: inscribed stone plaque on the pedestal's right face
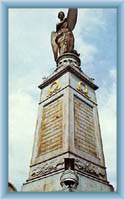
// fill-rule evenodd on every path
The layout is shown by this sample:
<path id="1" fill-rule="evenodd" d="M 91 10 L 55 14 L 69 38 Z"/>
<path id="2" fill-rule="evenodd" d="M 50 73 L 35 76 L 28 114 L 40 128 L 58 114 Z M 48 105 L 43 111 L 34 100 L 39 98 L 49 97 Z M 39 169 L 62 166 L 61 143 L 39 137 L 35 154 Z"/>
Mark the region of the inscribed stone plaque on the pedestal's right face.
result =
<path id="1" fill-rule="evenodd" d="M 74 96 L 75 147 L 97 156 L 93 108 Z"/>

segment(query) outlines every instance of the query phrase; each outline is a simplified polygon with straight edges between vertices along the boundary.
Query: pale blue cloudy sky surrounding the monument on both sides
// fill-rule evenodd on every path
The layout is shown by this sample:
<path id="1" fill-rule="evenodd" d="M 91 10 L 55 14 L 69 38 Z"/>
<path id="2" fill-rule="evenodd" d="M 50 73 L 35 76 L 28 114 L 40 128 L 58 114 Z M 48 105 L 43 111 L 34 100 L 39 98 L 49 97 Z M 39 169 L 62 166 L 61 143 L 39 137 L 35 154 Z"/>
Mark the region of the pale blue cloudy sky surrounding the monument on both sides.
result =
<path id="1" fill-rule="evenodd" d="M 55 69 L 50 45 L 57 13 L 67 9 L 9 9 L 9 179 L 28 177 L 43 76 Z M 99 86 L 97 101 L 108 180 L 116 188 L 116 9 L 79 9 L 74 30 L 82 70 Z"/>

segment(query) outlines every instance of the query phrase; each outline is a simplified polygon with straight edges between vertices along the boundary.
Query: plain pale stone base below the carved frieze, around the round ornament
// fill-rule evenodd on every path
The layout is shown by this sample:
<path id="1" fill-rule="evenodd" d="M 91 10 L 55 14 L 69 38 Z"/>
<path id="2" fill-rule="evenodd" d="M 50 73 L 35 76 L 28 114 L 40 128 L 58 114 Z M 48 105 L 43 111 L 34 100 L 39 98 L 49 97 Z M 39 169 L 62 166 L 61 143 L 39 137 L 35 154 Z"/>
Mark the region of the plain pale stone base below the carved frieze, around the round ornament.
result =
<path id="1" fill-rule="evenodd" d="M 113 192 L 113 187 L 107 183 L 102 183 L 86 176 L 79 176 L 79 184 L 76 189 L 62 188 L 60 177 L 62 172 L 46 176 L 39 180 L 32 180 L 23 184 L 22 192 Z"/>

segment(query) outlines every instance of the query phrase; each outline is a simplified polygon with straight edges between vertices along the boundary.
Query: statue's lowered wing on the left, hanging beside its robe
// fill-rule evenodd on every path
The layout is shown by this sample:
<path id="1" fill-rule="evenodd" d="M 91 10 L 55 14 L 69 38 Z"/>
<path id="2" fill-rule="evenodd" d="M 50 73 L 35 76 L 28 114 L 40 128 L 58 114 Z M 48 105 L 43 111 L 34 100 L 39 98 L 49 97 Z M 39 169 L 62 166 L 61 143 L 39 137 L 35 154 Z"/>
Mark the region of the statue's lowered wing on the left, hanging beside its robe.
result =
<path id="1" fill-rule="evenodd" d="M 57 56 L 58 56 L 58 45 L 56 44 L 56 36 L 57 36 L 57 33 L 56 32 L 51 32 L 51 46 L 52 46 L 52 49 L 53 49 L 53 54 L 54 54 L 54 58 L 55 60 L 57 59 Z"/>

